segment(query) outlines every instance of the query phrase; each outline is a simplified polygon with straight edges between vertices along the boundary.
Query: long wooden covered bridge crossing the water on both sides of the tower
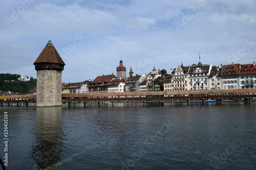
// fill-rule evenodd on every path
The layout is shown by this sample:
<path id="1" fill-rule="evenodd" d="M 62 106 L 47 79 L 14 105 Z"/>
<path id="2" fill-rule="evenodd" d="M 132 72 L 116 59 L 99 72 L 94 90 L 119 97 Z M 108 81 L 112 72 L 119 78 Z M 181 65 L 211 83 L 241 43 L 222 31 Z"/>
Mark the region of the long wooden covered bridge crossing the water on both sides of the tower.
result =
<path id="1" fill-rule="evenodd" d="M 73 102 L 175 102 L 211 99 L 216 102 L 223 100 L 243 100 L 250 103 L 256 99 L 256 89 L 228 90 L 186 90 L 186 91 L 136 91 L 136 92 L 89 92 L 62 94 L 62 103 Z M 0 96 L 0 106 L 32 106 L 36 103 L 36 94 Z"/>

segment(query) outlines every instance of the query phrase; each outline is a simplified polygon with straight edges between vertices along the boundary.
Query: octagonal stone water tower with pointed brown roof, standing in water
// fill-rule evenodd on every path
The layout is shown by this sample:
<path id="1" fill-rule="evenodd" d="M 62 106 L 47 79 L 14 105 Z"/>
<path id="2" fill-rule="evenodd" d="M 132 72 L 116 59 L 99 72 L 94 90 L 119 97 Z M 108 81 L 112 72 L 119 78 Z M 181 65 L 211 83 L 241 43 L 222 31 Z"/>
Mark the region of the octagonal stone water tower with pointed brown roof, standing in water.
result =
<path id="1" fill-rule="evenodd" d="M 65 63 L 51 40 L 34 65 L 37 71 L 36 106 L 61 106 L 61 71 Z"/>

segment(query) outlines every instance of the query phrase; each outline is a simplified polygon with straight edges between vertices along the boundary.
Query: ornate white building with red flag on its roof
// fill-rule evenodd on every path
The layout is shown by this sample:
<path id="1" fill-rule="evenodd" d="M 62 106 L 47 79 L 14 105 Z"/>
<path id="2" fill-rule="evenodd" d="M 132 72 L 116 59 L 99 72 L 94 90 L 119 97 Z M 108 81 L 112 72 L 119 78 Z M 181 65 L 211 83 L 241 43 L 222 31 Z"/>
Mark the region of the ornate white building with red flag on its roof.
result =
<path id="1" fill-rule="evenodd" d="M 208 77 L 211 70 L 211 63 L 209 65 L 199 63 L 190 66 L 188 71 L 188 89 L 189 90 L 207 90 Z"/>

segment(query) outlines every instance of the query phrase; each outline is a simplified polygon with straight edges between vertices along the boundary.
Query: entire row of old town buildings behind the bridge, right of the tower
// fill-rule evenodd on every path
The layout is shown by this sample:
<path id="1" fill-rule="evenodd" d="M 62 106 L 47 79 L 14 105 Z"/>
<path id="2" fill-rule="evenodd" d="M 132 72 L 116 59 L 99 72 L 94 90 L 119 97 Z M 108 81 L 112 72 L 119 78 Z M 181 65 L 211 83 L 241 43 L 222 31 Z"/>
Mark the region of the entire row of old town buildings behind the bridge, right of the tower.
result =
<path id="1" fill-rule="evenodd" d="M 120 60 L 116 69 L 117 76 L 102 75 L 94 80 L 79 83 L 67 83 L 63 93 L 86 92 L 124 92 L 124 91 L 179 91 L 206 89 L 244 89 L 256 88 L 256 66 L 252 64 L 222 65 L 210 64 L 178 65 L 170 69 L 170 74 L 159 74 L 154 67 L 151 74 L 136 75 L 132 67 L 126 77 L 126 67 Z"/>

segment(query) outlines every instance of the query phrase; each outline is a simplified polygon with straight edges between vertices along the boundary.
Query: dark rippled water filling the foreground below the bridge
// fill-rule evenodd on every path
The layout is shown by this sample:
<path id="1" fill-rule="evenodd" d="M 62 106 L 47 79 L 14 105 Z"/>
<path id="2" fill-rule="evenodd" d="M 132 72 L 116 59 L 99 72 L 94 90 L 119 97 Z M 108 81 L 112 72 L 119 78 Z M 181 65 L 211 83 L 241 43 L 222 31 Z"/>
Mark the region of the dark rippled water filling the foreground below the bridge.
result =
<path id="1" fill-rule="evenodd" d="M 256 169 L 255 107 L 0 107 L 0 154 L 8 112 L 8 169 Z"/>

